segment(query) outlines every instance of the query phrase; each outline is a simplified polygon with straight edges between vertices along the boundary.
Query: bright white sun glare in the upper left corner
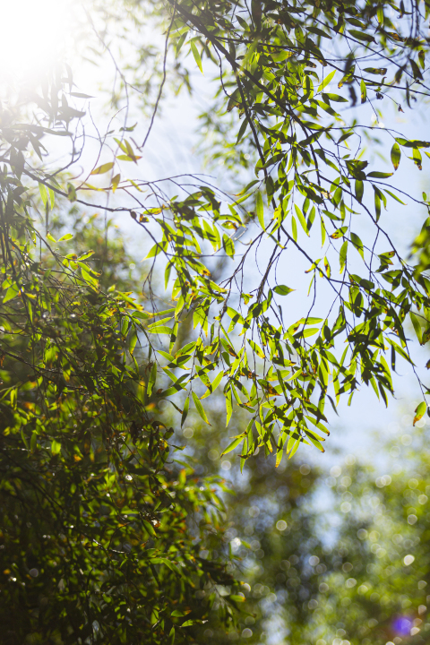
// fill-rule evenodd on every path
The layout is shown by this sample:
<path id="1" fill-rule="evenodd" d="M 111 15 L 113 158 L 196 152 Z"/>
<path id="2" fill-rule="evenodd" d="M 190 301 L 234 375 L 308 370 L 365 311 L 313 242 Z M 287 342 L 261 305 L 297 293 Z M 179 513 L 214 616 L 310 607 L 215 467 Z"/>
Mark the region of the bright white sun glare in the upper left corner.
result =
<path id="1" fill-rule="evenodd" d="M 0 77 L 27 79 L 55 65 L 72 32 L 71 0 L 2 3 Z"/>

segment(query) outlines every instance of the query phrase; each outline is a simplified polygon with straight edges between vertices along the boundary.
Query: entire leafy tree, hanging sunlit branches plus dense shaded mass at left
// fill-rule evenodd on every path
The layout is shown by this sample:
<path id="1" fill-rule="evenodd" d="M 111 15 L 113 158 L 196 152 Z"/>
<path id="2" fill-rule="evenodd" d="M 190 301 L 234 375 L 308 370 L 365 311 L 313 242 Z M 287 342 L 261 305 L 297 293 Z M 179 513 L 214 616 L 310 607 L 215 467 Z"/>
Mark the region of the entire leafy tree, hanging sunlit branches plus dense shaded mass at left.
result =
<path id="1" fill-rule="evenodd" d="M 137 44 L 127 73 L 108 41 L 116 12 L 136 37 L 155 25 L 163 41 Z M 0 106 L 7 642 L 187 641 L 185 628 L 209 612 L 194 603 L 199 585 L 212 589 L 227 622 L 245 598 L 228 570 L 231 550 L 198 555 L 204 541 L 216 550 L 223 485 L 172 461 L 175 430 L 190 410 L 211 426 L 220 397 L 226 426 L 240 418 L 224 453 L 240 451 L 243 469 L 262 449 L 280 466 L 301 443 L 323 450 L 327 410 L 351 401 L 361 383 L 387 402 L 397 362 L 415 371 L 409 321 L 421 345 L 430 340 L 430 219 L 409 255 L 394 245 L 389 215 L 397 204 L 402 217 L 410 204 L 429 210 L 400 163 L 419 172 L 430 142 L 380 127 L 379 106 L 409 113 L 426 101 L 429 13 L 427 2 L 403 0 L 95 3 L 89 23 L 115 62 L 113 104 L 124 115 L 106 132 L 94 125 L 95 154 L 90 96 L 74 86 L 73 66 L 57 61 L 30 88 L 8 89 Z M 150 83 L 139 81 L 142 60 L 154 70 Z M 223 162 L 228 180 L 146 179 L 139 161 L 163 92 L 195 92 L 195 71 L 216 87 L 202 150 Z M 150 115 L 138 141 L 133 92 Z M 391 150 L 391 167 L 376 163 L 378 147 Z M 82 224 L 83 213 L 99 211 L 104 231 L 93 219 Z M 135 236 L 150 240 L 141 272 L 125 269 L 109 213 L 131 217 Z M 283 277 L 288 258 L 305 261 L 310 279 L 311 305 L 299 313 L 285 305 L 295 287 Z M 428 393 L 416 374 L 423 400 L 414 425 Z M 230 590 L 219 595 L 222 585 Z"/>

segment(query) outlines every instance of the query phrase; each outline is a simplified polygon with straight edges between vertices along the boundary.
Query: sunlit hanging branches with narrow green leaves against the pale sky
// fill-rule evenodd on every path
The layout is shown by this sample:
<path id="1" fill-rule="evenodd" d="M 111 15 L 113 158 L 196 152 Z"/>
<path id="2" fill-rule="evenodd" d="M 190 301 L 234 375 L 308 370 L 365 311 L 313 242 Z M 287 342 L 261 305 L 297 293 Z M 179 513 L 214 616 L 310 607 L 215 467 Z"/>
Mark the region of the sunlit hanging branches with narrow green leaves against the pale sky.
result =
<path id="1" fill-rule="evenodd" d="M 152 240 L 149 280 L 163 270 L 176 302 L 162 323 L 145 327 L 154 348 L 168 337 L 157 357 L 160 374 L 171 379 L 163 396 L 182 392 L 185 409 L 195 405 L 210 423 L 202 396 L 221 383 L 227 425 L 235 405 L 251 415 L 231 448 L 240 445 L 245 462 L 264 446 L 279 464 L 300 443 L 323 451 L 327 404 L 350 401 L 360 383 L 387 402 L 396 361 L 413 365 L 409 319 L 421 344 L 429 337 L 425 267 L 393 245 L 383 211 L 404 204 L 408 193 L 401 181 L 388 181 L 401 175 L 402 155 L 421 169 L 421 150 L 430 143 L 382 130 L 374 107 L 384 99 L 403 111 L 428 95 L 429 7 L 257 0 L 249 11 L 223 2 L 168 4 L 164 64 L 173 47 L 181 64 L 187 53 L 188 66 L 216 80 L 218 111 L 203 116 L 207 146 L 222 162 L 233 155 L 228 168 L 243 167 L 241 190 L 231 195 L 207 180 L 176 177 L 172 196 L 163 182 L 130 173 L 122 179 L 120 162 L 138 162 L 150 130 L 142 145 L 132 135 L 115 137 L 116 159 L 92 172 L 112 174 L 106 191 L 115 191 L 118 203 L 134 191 L 131 216 Z M 351 107 L 363 116 L 373 110 L 376 124 L 348 120 Z M 374 168 L 360 148 L 362 139 L 379 145 L 380 137 L 391 148 L 391 171 Z M 256 178 L 249 182 L 251 163 Z M 428 210 L 426 194 L 410 199 Z M 244 241 L 248 230 L 254 236 Z M 262 279 L 249 284 L 260 247 Z M 213 280 L 212 258 L 221 255 L 234 265 Z M 283 298 L 294 289 L 276 272 L 288 257 L 305 260 L 311 278 L 313 301 L 298 319 L 283 312 Z M 178 345 L 178 329 L 190 317 L 198 336 Z"/>

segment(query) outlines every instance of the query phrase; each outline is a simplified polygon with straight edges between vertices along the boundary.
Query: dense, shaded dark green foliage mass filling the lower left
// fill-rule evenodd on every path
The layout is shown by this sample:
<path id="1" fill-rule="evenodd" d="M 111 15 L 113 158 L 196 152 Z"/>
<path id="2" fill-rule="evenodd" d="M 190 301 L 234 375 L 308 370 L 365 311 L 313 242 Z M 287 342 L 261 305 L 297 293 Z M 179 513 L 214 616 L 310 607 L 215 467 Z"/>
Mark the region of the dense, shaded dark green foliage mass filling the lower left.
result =
<path id="1" fill-rule="evenodd" d="M 150 314 L 115 288 L 130 285 L 122 240 L 82 252 L 103 230 L 72 212 L 73 243 L 56 222 L 38 255 L 20 205 L 21 230 L 2 224 L 2 641 L 189 641 L 196 586 L 230 581 L 199 556 L 221 528 L 219 480 L 169 460 L 133 340 Z"/>

